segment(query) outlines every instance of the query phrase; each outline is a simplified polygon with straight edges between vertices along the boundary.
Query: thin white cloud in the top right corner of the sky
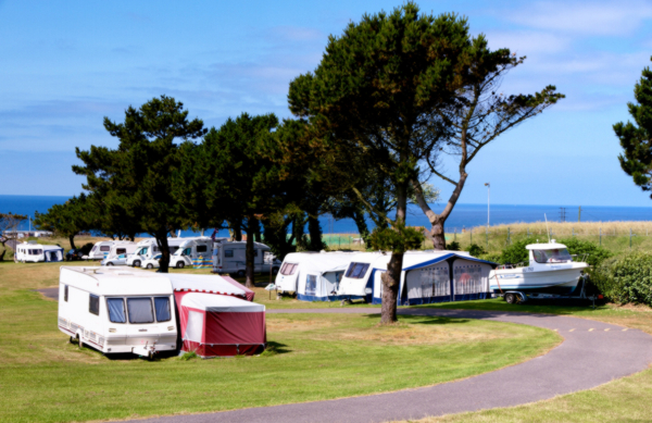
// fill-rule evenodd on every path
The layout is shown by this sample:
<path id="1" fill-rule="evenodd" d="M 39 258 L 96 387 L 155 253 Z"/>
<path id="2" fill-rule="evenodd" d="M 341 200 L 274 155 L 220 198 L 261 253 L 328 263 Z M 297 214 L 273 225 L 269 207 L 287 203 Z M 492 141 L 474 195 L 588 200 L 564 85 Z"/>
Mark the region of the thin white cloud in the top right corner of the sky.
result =
<path id="1" fill-rule="evenodd" d="M 649 1 L 536 2 L 506 12 L 509 21 L 521 26 L 582 35 L 629 35 L 652 18 Z"/>

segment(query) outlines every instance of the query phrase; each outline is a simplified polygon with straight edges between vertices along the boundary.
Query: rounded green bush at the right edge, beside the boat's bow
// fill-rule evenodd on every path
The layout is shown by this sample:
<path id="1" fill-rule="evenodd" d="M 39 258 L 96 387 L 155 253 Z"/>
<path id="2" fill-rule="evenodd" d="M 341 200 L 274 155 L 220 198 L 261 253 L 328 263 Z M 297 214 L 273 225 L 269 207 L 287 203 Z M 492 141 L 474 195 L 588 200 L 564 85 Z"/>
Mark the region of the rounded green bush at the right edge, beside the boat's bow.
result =
<path id="1" fill-rule="evenodd" d="M 652 252 L 604 260 L 590 275 L 600 293 L 614 302 L 652 306 Z"/>

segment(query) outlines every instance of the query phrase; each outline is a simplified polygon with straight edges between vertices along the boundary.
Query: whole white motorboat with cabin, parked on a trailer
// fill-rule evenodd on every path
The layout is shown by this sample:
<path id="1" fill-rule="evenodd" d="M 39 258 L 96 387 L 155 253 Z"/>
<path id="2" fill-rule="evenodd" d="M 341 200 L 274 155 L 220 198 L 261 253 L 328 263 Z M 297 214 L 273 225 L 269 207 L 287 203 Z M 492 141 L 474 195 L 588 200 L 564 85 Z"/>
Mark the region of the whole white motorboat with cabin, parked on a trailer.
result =
<path id="1" fill-rule="evenodd" d="M 589 266 L 574 262 L 566 246 L 554 239 L 525 248 L 529 252 L 529 264 L 505 264 L 491 271 L 489 287 L 493 293 L 570 295 L 577 287 L 581 271 Z"/>

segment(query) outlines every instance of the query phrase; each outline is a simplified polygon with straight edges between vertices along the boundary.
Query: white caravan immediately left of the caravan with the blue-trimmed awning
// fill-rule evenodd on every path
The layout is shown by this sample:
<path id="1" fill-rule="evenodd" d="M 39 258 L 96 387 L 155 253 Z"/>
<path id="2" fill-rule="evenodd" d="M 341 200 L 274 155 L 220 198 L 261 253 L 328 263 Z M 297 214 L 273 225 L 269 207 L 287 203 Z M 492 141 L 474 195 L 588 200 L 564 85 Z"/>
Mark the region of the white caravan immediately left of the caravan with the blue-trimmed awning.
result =
<path id="1" fill-rule="evenodd" d="M 296 293 L 304 301 L 339 299 L 337 290 L 353 252 L 292 252 L 285 257 L 276 275 L 280 294 Z"/>

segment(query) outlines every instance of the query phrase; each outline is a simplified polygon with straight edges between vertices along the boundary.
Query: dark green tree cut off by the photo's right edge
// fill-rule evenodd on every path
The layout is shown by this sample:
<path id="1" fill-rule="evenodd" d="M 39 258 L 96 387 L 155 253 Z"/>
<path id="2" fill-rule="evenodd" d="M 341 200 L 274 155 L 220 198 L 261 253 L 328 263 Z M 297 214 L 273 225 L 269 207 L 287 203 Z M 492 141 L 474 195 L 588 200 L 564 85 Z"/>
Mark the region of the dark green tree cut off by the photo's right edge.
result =
<path id="1" fill-rule="evenodd" d="M 635 123 L 619 122 L 614 132 L 620 140 L 623 153 L 618 155 L 620 167 L 643 191 L 652 190 L 652 71 L 643 69 L 641 78 L 634 86 L 636 103 L 627 107 Z M 652 198 L 652 194 L 650 194 Z"/>

